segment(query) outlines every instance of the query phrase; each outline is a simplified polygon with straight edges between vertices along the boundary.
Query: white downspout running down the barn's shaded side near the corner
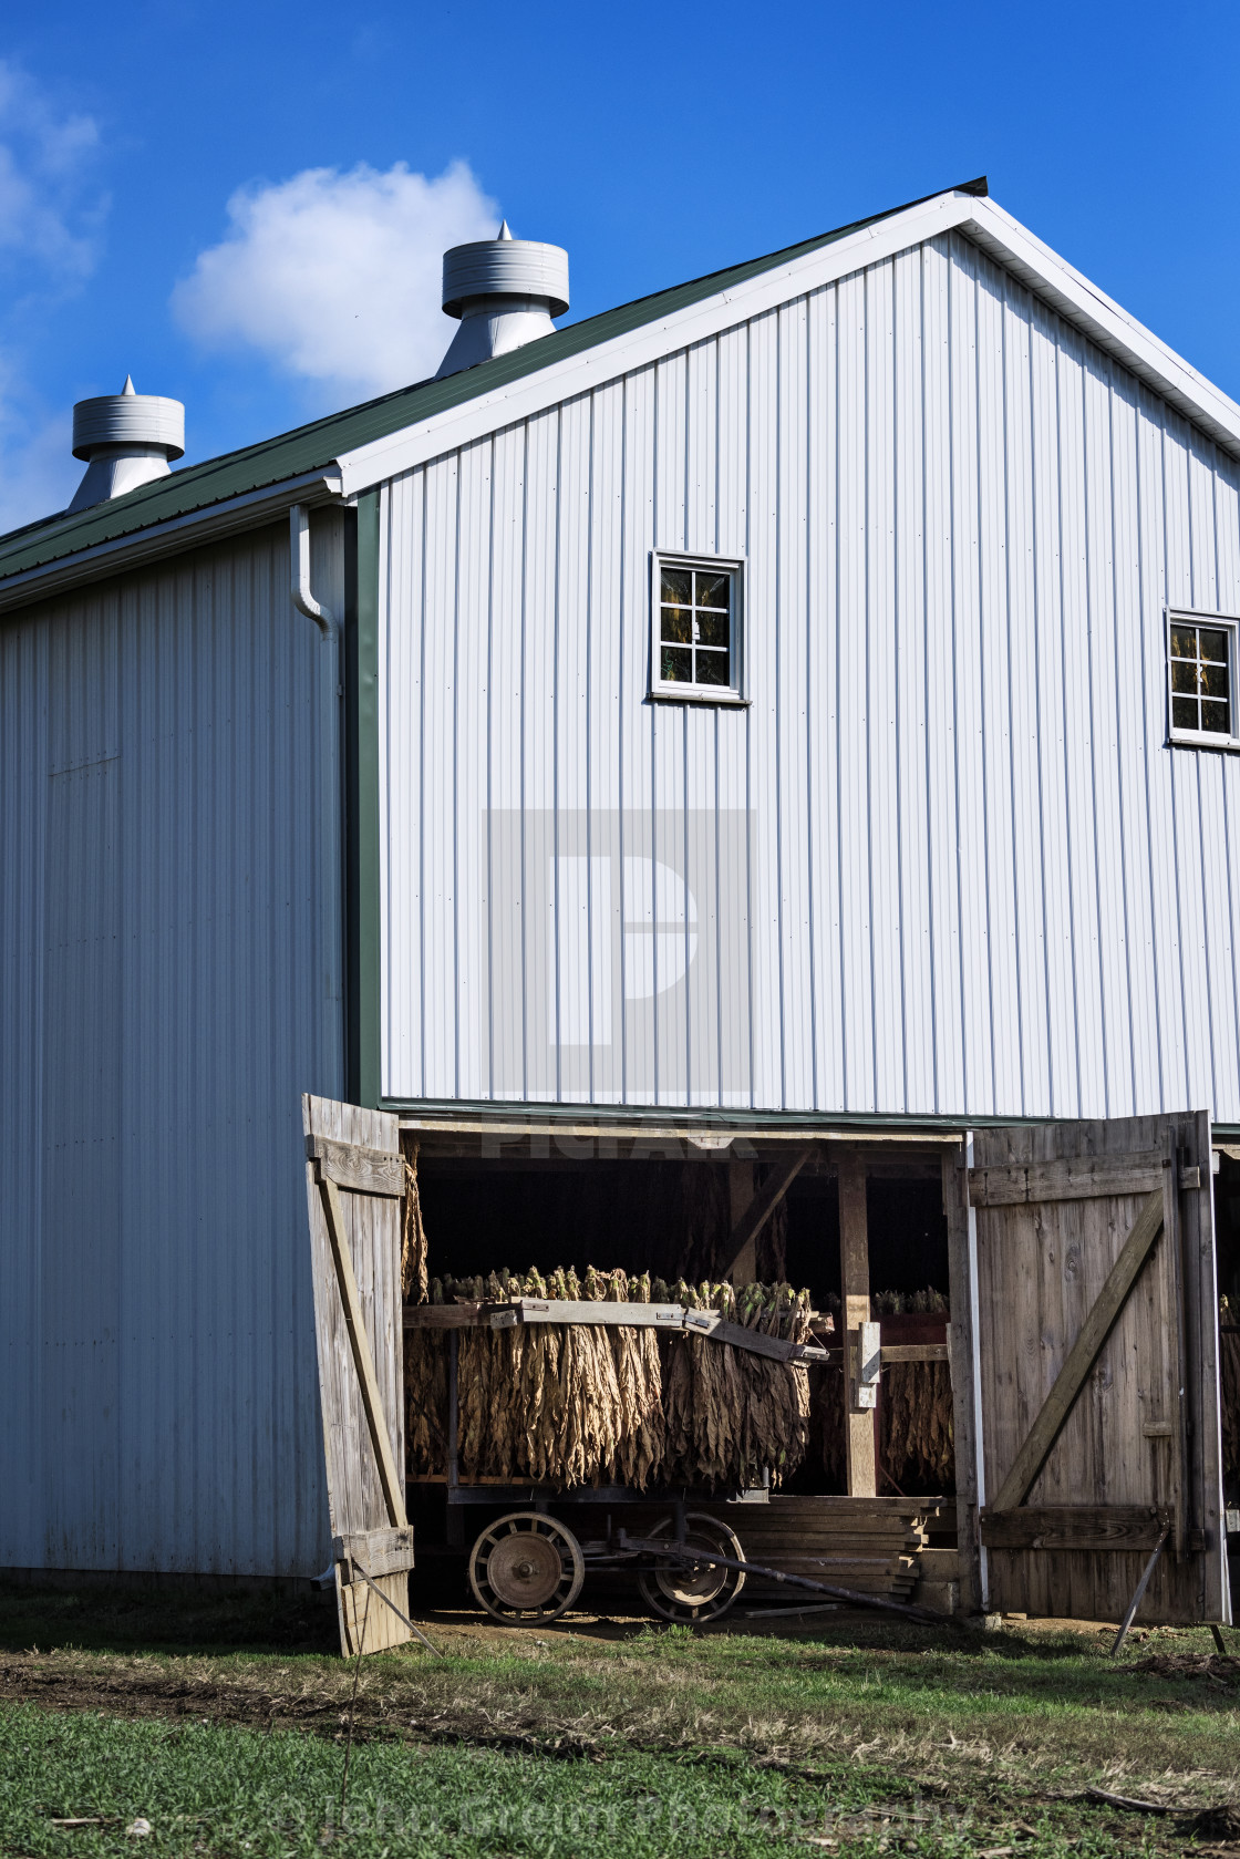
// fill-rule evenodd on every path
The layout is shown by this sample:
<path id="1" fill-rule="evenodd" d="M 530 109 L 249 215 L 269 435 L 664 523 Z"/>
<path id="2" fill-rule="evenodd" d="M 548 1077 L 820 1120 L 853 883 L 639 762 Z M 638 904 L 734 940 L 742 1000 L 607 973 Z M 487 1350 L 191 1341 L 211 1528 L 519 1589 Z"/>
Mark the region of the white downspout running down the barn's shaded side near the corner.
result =
<path id="1" fill-rule="evenodd" d="M 340 868 L 340 626 L 331 608 L 310 593 L 310 513 L 288 511 L 290 593 L 320 634 L 320 946 L 323 952 L 322 1065 L 323 1095 L 344 1097 L 344 976 Z"/>

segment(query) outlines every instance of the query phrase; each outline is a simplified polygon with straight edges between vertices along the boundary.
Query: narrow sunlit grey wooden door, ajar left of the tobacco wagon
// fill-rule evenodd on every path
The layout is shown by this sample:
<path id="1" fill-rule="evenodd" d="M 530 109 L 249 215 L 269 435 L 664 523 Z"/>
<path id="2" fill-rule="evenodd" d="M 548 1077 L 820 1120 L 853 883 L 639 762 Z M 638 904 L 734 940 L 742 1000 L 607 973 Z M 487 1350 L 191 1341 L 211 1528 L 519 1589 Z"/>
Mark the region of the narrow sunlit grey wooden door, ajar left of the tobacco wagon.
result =
<path id="1" fill-rule="evenodd" d="M 340 1649 L 379 1653 L 411 1638 L 376 1593 L 409 1612 L 400 1123 L 325 1097 L 301 1110 Z"/>

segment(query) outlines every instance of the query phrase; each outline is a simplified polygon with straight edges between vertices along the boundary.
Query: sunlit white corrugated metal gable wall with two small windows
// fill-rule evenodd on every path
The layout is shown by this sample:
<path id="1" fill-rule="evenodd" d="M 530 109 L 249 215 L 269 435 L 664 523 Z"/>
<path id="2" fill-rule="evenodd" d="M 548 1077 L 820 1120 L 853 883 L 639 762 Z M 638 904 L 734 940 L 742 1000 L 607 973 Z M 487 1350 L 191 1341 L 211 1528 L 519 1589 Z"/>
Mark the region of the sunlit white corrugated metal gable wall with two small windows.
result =
<path id="1" fill-rule="evenodd" d="M 1240 1121 L 1162 617 L 1238 483 L 959 238 L 392 481 L 387 1095 Z M 747 558 L 747 710 L 645 701 L 653 547 Z"/>

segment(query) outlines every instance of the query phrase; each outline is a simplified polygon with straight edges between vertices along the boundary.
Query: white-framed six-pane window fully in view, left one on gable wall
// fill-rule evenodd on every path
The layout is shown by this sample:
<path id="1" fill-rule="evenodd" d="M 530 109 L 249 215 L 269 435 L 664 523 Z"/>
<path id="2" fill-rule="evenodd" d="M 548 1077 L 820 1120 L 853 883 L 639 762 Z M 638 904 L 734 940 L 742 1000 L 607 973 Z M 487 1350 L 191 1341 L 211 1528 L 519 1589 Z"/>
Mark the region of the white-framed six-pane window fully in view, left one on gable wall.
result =
<path id="1" fill-rule="evenodd" d="M 744 561 L 651 556 L 651 697 L 744 703 Z"/>

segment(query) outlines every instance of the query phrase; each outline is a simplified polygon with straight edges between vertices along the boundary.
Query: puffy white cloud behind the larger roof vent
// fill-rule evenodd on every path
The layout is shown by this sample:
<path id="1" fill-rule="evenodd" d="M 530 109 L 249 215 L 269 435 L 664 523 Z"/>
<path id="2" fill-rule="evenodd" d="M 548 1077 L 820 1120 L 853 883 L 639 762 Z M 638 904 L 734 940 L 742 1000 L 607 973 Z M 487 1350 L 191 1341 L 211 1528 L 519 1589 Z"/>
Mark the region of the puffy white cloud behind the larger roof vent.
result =
<path id="1" fill-rule="evenodd" d="M 498 208 L 465 162 L 433 180 L 398 162 L 242 188 L 229 219 L 177 284 L 177 320 L 203 346 L 255 348 L 338 403 L 435 372 L 454 333 L 442 255 L 493 238 Z"/>

